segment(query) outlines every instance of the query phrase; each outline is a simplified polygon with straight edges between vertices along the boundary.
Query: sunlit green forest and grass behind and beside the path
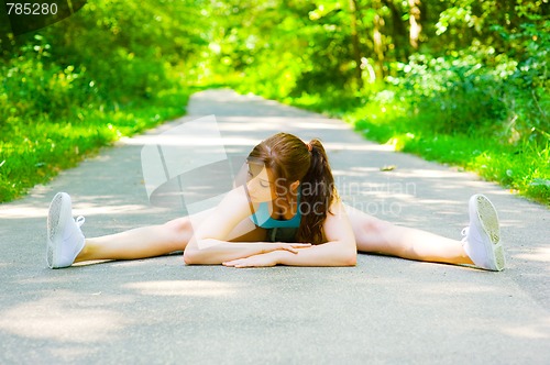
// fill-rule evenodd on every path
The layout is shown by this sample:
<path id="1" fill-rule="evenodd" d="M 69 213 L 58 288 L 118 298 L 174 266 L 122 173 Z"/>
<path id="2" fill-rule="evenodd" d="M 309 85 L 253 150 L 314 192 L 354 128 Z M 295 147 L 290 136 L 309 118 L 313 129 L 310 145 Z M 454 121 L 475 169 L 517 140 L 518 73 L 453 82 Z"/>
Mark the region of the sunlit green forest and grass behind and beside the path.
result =
<path id="1" fill-rule="evenodd" d="M 231 87 L 550 206 L 548 0 L 89 0 L 0 19 L 0 202 Z M 2 15 L 6 18 L 6 15 Z"/>

